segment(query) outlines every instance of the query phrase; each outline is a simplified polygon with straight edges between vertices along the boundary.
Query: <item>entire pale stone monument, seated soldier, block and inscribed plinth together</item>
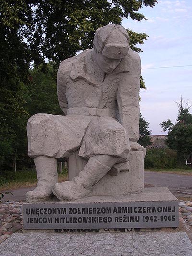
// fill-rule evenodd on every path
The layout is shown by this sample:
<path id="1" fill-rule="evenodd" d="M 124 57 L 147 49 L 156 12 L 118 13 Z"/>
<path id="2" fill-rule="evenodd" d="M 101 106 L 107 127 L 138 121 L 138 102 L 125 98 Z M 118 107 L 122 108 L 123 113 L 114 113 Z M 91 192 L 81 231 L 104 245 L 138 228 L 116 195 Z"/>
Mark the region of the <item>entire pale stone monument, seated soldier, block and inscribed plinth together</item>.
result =
<path id="1" fill-rule="evenodd" d="M 60 64 L 65 116 L 29 119 L 38 183 L 26 194 L 24 229 L 177 227 L 177 199 L 166 188 L 144 189 L 140 57 L 121 25 L 97 29 L 93 45 Z M 69 180 L 58 183 L 57 161 L 66 159 Z"/>

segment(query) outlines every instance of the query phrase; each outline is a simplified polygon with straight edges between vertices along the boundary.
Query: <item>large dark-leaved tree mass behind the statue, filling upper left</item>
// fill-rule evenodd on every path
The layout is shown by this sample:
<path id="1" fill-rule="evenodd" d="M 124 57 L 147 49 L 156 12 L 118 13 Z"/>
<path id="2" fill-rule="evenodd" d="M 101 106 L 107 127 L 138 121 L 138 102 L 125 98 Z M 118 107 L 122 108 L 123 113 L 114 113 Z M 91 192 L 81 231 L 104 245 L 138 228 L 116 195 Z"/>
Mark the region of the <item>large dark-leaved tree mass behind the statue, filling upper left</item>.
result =
<path id="1" fill-rule="evenodd" d="M 157 0 L 0 0 L 1 169 L 12 168 L 15 159 L 26 156 L 25 127 L 29 116 L 42 111 L 59 114 L 52 97 L 55 74 L 45 59 L 54 61 L 53 71 L 56 70 L 64 59 L 93 46 L 98 27 L 120 24 L 123 18 L 141 21 L 145 17 L 139 10 L 156 3 Z M 142 44 L 147 35 L 131 30 L 128 33 L 131 48 L 141 51 L 136 45 Z M 30 72 L 32 63 L 34 69 Z M 143 79 L 141 86 L 144 87 Z"/>

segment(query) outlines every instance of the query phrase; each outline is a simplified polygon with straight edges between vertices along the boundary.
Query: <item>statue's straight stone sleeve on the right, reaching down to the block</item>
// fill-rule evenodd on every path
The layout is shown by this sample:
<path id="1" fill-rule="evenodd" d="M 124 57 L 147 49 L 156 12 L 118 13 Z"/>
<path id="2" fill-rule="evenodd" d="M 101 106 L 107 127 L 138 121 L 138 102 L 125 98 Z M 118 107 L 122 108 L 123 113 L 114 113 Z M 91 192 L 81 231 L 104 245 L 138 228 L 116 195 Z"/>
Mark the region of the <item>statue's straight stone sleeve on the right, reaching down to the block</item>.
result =
<path id="1" fill-rule="evenodd" d="M 130 141 L 139 140 L 139 87 L 141 61 L 136 52 L 131 51 L 128 61 L 130 70 L 120 73 L 117 104 L 120 123 L 125 127 Z"/>

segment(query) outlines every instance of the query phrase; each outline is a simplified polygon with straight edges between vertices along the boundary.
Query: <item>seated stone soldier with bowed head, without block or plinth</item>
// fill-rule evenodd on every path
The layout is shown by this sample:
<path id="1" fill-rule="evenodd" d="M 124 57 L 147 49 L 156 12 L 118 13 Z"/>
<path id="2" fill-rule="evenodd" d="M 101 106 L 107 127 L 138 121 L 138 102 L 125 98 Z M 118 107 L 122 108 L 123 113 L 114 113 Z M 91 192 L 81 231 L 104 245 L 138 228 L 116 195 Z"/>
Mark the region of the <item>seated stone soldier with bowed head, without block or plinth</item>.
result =
<path id="1" fill-rule="evenodd" d="M 38 183 L 28 202 L 88 196 L 119 164 L 129 164 L 130 150 L 146 150 L 139 139 L 139 55 L 129 47 L 121 25 L 96 30 L 94 48 L 61 62 L 57 76 L 60 107 L 65 116 L 36 114 L 27 125 L 28 155 L 34 159 Z M 87 159 L 71 181 L 57 183 L 57 160 L 78 151 Z"/>

